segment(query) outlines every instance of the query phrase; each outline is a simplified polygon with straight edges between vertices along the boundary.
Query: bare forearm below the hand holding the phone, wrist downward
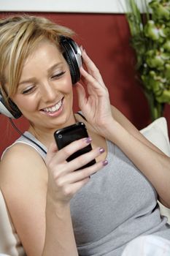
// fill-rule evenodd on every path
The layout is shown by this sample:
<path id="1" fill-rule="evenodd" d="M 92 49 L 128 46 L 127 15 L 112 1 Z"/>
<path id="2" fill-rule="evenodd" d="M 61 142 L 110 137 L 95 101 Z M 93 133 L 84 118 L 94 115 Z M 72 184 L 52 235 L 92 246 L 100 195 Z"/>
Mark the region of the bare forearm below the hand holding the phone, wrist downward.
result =
<path id="1" fill-rule="evenodd" d="M 60 252 L 57 254 L 57 252 Z M 77 247 L 72 228 L 69 206 L 58 206 L 47 192 L 46 233 L 42 256 L 70 255 L 77 256 Z"/>

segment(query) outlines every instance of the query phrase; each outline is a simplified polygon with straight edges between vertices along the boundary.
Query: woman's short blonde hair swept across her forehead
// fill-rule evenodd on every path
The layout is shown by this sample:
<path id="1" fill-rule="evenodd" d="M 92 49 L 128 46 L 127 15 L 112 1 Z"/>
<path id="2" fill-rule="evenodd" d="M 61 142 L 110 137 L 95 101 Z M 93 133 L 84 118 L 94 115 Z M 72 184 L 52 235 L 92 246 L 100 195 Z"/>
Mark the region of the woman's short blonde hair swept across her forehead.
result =
<path id="1" fill-rule="evenodd" d="M 0 20 L 0 86 L 6 102 L 18 88 L 23 62 L 39 42 L 49 40 L 60 47 L 61 35 L 72 37 L 74 32 L 51 20 L 30 15 L 17 15 Z M 5 75 L 6 72 L 6 75 Z M 5 89 L 8 83 L 8 90 Z"/>

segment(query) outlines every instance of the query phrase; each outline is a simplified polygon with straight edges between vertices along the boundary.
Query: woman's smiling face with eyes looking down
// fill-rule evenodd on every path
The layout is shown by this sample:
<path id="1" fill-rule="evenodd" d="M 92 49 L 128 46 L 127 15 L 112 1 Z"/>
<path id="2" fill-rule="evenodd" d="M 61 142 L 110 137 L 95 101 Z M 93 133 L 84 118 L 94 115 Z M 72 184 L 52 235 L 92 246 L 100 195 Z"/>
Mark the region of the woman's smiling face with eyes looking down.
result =
<path id="1" fill-rule="evenodd" d="M 41 42 L 26 59 L 13 102 L 34 129 L 74 122 L 69 66 L 53 43 Z"/>

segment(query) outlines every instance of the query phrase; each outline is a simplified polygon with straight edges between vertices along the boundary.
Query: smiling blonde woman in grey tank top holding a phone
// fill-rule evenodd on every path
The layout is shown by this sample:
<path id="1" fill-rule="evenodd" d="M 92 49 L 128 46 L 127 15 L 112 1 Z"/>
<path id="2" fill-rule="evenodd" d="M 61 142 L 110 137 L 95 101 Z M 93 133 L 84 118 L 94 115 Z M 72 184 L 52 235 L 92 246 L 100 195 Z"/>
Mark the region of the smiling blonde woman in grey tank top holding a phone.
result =
<path id="1" fill-rule="evenodd" d="M 73 113 L 72 70 L 61 36 L 72 31 L 45 18 L 1 20 L 1 94 L 28 119 L 24 135 L 34 140 L 21 136 L 7 148 L 0 172 L 26 255 L 42 255 L 51 243 L 48 255 L 118 256 L 140 235 L 170 239 L 157 204 L 159 198 L 170 207 L 169 157 L 110 106 L 107 87 L 83 49 L 75 85 L 82 116 Z M 89 138 L 58 151 L 53 133 L 77 121 L 85 123 Z M 66 161 L 89 143 L 92 151 Z M 95 165 L 77 170 L 92 159 Z"/>

